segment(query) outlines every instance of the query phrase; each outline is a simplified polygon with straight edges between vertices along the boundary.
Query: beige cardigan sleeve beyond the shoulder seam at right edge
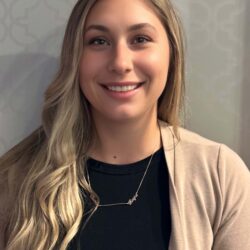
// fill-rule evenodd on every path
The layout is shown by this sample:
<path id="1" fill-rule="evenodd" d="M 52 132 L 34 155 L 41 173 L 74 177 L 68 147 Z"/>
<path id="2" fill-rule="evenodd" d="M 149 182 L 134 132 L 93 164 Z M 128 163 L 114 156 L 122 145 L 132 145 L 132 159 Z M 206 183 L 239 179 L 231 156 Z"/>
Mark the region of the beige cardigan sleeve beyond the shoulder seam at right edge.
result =
<path id="1" fill-rule="evenodd" d="M 240 157 L 225 145 L 220 147 L 217 171 L 223 209 L 213 250 L 249 250 L 250 172 Z"/>

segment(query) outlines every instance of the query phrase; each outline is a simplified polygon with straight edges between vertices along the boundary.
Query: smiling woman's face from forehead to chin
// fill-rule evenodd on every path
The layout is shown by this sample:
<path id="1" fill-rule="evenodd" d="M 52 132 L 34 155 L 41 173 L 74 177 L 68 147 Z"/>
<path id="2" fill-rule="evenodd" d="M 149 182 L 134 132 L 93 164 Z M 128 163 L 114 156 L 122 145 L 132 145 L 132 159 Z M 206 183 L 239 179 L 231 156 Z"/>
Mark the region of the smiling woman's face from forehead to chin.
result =
<path id="1" fill-rule="evenodd" d="M 87 16 L 83 43 L 80 86 L 94 119 L 156 119 L 169 42 L 151 4 L 97 1 Z"/>

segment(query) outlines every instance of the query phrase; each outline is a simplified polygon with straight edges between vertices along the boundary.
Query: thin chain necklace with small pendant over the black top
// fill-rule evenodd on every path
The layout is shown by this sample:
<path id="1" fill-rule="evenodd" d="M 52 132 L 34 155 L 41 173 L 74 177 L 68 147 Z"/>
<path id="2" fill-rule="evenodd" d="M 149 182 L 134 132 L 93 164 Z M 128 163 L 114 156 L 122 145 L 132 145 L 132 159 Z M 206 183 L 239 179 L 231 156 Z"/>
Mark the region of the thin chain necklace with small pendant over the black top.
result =
<path id="1" fill-rule="evenodd" d="M 139 183 L 139 185 L 138 185 L 138 187 L 137 187 L 137 189 L 136 189 L 134 195 L 133 195 L 127 202 L 110 203 L 110 204 L 99 204 L 98 207 L 111 207 L 111 206 L 121 206 L 121 205 L 128 205 L 128 206 L 131 206 L 131 205 L 133 205 L 133 203 L 136 201 L 136 199 L 137 199 L 138 196 L 139 196 L 139 194 L 138 194 L 138 193 L 139 193 L 139 190 L 140 190 L 141 185 L 142 185 L 142 183 L 143 183 L 143 181 L 144 181 L 144 178 L 145 178 L 145 176 L 146 176 L 146 174 L 147 174 L 147 172 L 148 172 L 148 169 L 149 169 L 149 166 L 150 166 L 151 161 L 152 161 L 152 159 L 153 159 L 153 156 L 154 156 L 154 154 L 155 154 L 155 151 L 156 151 L 156 150 L 154 150 L 154 152 L 152 153 L 152 155 L 151 155 L 150 158 L 149 158 L 149 161 L 148 161 L 146 170 L 145 170 L 145 172 L 144 172 L 144 174 L 143 174 L 143 176 L 142 176 L 142 178 L 141 178 L 141 181 L 140 181 L 140 183 Z M 90 187 L 91 187 L 90 179 L 89 179 L 88 167 L 86 167 L 86 170 L 87 170 L 88 182 L 89 182 L 89 185 L 90 185 Z M 91 188 L 92 188 L 92 187 L 91 187 Z"/>

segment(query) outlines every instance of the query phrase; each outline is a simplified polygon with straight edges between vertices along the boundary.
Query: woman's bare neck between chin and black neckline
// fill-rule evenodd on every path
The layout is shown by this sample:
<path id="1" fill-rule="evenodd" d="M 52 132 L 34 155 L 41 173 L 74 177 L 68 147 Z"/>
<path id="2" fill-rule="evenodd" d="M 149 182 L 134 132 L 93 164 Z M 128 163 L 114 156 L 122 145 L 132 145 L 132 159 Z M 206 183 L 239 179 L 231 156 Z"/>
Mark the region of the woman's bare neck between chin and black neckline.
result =
<path id="1" fill-rule="evenodd" d="M 142 160 L 161 147 L 157 118 L 133 121 L 98 121 L 90 157 L 111 164 Z"/>

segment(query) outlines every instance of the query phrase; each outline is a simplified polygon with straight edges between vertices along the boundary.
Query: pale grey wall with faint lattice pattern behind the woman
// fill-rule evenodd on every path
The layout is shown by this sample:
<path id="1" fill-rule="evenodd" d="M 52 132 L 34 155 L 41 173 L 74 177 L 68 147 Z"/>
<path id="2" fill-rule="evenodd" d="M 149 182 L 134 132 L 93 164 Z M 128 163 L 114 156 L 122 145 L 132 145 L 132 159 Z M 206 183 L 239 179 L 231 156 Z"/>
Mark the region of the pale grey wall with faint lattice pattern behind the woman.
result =
<path id="1" fill-rule="evenodd" d="M 0 0 L 0 154 L 40 123 L 76 0 Z M 186 126 L 250 166 L 249 0 L 175 0 L 187 38 Z"/>

